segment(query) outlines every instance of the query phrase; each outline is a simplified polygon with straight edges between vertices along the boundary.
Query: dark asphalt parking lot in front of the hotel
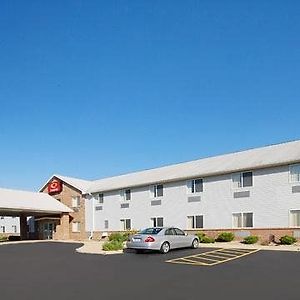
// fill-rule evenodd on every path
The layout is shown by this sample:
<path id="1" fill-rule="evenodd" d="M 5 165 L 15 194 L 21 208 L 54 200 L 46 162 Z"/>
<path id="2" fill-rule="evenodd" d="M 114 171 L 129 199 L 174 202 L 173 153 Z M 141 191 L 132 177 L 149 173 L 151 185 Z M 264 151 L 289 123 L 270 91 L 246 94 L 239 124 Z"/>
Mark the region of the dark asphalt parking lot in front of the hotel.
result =
<path id="1" fill-rule="evenodd" d="M 299 299 L 298 252 L 259 251 L 207 267 L 166 261 L 215 249 L 103 256 L 78 246 L 2 245 L 1 299 Z"/>

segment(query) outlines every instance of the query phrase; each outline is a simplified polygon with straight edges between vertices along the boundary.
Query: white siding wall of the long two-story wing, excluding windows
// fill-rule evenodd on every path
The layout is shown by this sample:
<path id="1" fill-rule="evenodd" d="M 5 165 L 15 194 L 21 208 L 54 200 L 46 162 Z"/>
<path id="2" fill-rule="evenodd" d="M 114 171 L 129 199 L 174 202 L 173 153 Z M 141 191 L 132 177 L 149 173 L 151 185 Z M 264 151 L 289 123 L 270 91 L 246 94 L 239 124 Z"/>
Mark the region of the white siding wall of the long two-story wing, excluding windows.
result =
<path id="1" fill-rule="evenodd" d="M 253 170 L 253 186 L 248 188 L 233 189 L 232 174 L 203 178 L 200 202 L 188 202 L 191 195 L 187 193 L 186 181 L 165 183 L 164 196 L 157 198 L 161 205 L 157 206 L 151 206 L 149 186 L 132 188 L 129 201 L 121 200 L 119 190 L 106 192 L 102 205 L 87 199 L 86 229 L 93 229 L 93 211 L 96 232 L 119 231 L 120 219 L 127 218 L 133 229 L 141 229 L 151 226 L 152 217 L 163 217 L 165 226 L 187 229 L 187 216 L 192 215 L 204 216 L 206 230 L 225 230 L 233 228 L 232 214 L 241 212 L 253 213 L 254 229 L 287 229 L 289 211 L 300 210 L 300 193 L 292 193 L 292 186 L 289 166 L 281 166 Z M 248 191 L 250 196 L 234 198 L 234 192 L 241 191 Z M 129 203 L 129 208 L 121 208 L 121 203 Z M 95 210 L 93 205 L 102 206 L 102 210 Z M 108 229 L 104 228 L 104 220 L 109 221 Z"/>

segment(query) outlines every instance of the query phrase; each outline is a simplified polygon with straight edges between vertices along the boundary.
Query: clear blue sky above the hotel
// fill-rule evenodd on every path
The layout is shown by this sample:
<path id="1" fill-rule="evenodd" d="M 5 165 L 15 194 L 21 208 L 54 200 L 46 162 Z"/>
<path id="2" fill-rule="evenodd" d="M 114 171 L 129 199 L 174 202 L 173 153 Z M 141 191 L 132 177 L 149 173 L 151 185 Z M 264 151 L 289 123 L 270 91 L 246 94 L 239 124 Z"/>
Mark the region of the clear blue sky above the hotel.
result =
<path id="1" fill-rule="evenodd" d="M 300 138 L 299 1 L 0 2 L 0 186 Z"/>

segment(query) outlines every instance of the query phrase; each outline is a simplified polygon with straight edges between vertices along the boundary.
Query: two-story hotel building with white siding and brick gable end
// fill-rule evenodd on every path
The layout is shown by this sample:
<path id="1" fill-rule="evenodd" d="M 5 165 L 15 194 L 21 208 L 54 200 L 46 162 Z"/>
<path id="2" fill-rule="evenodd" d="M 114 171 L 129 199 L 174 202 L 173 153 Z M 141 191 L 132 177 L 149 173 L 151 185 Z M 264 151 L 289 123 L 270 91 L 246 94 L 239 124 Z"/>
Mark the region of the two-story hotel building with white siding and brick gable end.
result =
<path id="1" fill-rule="evenodd" d="M 300 237 L 300 141 L 95 181 L 54 175 L 41 192 L 72 208 L 74 239 L 168 225 Z"/>

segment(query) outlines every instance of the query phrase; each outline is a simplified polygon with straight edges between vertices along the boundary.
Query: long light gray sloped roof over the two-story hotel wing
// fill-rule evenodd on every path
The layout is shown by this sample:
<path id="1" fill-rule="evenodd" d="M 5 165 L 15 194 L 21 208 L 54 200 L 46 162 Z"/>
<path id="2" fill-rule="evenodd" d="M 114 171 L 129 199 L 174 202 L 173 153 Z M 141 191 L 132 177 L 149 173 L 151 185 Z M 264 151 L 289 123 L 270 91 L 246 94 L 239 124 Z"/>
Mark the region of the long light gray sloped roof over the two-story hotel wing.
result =
<path id="1" fill-rule="evenodd" d="M 300 162 L 300 140 L 219 155 L 94 181 L 55 175 L 83 193 L 96 193 L 181 179 L 208 177 L 243 170 Z M 80 188 L 79 188 L 80 186 Z"/>

